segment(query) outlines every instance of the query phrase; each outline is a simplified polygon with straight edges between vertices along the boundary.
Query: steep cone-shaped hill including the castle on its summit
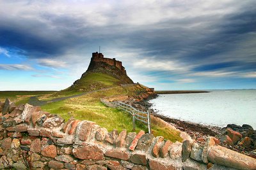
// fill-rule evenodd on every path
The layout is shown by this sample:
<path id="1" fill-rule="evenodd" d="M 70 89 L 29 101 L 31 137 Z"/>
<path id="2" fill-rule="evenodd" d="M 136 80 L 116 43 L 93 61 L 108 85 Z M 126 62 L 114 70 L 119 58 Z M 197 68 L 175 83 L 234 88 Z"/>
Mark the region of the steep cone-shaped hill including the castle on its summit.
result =
<path id="1" fill-rule="evenodd" d="M 127 76 L 122 62 L 115 58 L 104 58 L 102 53 L 92 53 L 92 59 L 85 73 L 79 80 L 76 80 L 72 86 L 61 90 L 57 95 L 90 92 L 92 90 L 115 87 L 116 85 L 133 84 L 133 81 Z"/>

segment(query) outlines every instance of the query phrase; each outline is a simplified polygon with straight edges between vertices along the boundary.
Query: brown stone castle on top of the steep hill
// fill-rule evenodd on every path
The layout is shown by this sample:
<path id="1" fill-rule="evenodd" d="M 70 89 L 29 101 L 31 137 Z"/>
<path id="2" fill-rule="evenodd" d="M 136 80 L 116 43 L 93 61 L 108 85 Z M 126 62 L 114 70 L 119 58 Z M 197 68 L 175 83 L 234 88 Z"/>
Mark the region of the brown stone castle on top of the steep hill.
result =
<path id="1" fill-rule="evenodd" d="M 115 66 L 118 69 L 120 69 L 120 71 L 122 71 L 122 73 L 126 74 L 125 71 L 125 67 L 122 66 L 122 62 L 119 60 L 116 60 L 115 58 L 113 59 L 109 59 L 109 58 L 104 58 L 104 55 L 102 53 L 92 53 L 92 59 L 91 59 L 91 63 L 93 62 L 105 62 L 106 64 L 109 64 L 110 66 Z"/>

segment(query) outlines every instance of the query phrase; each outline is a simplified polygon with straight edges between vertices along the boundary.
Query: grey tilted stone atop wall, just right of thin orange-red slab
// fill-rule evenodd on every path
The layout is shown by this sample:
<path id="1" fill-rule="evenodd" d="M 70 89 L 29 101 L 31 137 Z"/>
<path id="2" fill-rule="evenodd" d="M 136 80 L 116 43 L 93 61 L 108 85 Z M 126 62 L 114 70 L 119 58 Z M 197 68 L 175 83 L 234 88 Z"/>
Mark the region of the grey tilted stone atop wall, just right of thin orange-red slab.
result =
<path id="1" fill-rule="evenodd" d="M 136 150 L 147 151 L 149 146 L 152 144 L 153 139 L 153 134 L 143 134 L 138 140 Z"/>

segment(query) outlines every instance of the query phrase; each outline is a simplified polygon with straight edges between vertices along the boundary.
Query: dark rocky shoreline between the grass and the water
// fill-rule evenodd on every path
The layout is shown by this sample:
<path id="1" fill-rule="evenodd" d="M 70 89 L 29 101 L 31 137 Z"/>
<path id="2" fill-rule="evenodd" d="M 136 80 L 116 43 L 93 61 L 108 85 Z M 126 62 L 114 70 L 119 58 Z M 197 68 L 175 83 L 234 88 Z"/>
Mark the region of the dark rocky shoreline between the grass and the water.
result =
<path id="1" fill-rule="evenodd" d="M 150 96 L 140 101 L 129 97 L 125 103 L 138 108 L 138 110 L 146 111 L 152 106 L 148 101 L 154 97 L 157 96 Z M 256 159 L 256 131 L 250 125 L 228 124 L 227 127 L 217 127 L 166 117 L 157 113 L 157 110 L 151 110 L 151 114 L 175 126 L 180 131 L 188 133 L 198 143 L 205 144 L 207 136 L 214 136 L 220 140 L 221 146 Z"/>

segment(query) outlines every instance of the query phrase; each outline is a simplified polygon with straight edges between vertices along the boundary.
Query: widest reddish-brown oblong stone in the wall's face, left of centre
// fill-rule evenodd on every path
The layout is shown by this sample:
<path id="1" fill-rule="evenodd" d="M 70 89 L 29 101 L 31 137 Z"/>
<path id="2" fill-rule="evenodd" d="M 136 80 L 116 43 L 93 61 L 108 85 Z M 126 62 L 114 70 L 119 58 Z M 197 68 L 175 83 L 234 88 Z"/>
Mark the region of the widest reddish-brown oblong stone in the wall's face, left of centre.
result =
<path id="1" fill-rule="evenodd" d="M 78 159 L 103 160 L 104 153 L 98 146 L 83 146 L 73 149 L 73 155 Z"/>

